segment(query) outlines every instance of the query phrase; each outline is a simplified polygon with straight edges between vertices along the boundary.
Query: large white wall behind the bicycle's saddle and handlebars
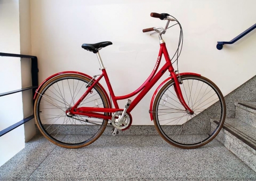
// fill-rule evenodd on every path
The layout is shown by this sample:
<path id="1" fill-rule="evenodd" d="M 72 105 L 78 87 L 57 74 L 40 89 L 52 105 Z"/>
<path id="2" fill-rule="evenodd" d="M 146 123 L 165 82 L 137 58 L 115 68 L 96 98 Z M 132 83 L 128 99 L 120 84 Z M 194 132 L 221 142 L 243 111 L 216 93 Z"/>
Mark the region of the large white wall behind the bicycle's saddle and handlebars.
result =
<path id="1" fill-rule="evenodd" d="M 158 37 L 142 29 L 164 26 L 150 13 L 165 12 L 183 27 L 180 72 L 202 74 L 227 95 L 256 75 L 256 33 L 221 51 L 216 44 L 254 25 L 255 7 L 255 0 L 31 0 L 32 54 L 38 57 L 39 82 L 67 70 L 100 74 L 96 55 L 81 45 L 112 41 L 100 54 L 113 89 L 117 96 L 134 91 L 153 70 L 159 51 Z M 178 26 L 163 36 L 170 56 L 178 38 Z M 153 124 L 148 114 L 153 92 L 131 112 L 133 125 Z"/>

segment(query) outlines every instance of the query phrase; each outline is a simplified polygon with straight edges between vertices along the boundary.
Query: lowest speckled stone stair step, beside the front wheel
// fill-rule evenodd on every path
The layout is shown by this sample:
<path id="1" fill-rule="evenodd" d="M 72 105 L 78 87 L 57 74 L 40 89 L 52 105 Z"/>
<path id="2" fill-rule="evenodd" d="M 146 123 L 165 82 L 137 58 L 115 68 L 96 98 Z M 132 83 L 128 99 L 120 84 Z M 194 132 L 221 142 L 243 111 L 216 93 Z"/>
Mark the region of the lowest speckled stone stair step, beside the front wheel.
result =
<path id="1" fill-rule="evenodd" d="M 218 121 L 211 119 L 211 129 Z M 237 118 L 226 118 L 216 137 L 224 146 L 256 171 L 256 128 Z"/>

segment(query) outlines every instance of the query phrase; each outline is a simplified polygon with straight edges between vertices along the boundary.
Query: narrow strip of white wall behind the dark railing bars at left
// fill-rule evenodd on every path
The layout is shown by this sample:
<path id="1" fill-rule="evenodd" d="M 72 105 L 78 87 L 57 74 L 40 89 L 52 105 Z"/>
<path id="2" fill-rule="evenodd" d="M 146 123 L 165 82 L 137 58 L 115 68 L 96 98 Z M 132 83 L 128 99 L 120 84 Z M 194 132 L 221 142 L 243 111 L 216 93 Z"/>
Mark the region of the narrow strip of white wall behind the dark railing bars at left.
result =
<path id="1" fill-rule="evenodd" d="M 0 52 L 20 53 L 19 0 L 0 0 Z M 21 88 L 20 58 L 0 57 L 0 93 Z M 0 130 L 23 119 L 22 94 L 0 97 Z M 0 166 L 25 147 L 24 126 L 0 137 Z"/>

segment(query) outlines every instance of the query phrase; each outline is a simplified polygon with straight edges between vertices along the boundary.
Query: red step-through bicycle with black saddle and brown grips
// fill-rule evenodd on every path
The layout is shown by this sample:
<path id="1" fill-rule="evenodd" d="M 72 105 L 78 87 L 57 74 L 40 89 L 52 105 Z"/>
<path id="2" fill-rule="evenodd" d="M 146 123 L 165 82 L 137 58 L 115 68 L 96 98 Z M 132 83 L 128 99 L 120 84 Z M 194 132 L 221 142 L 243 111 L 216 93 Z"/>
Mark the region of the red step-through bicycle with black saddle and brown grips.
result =
<path id="1" fill-rule="evenodd" d="M 182 27 L 169 14 L 151 13 L 151 16 L 166 20 L 167 24 L 165 28 L 143 29 L 143 32 L 155 31 L 158 34 L 160 51 L 151 75 L 134 92 L 124 96 L 116 96 L 113 92 L 98 52 L 112 45 L 111 42 L 82 45 L 85 50 L 96 53 L 101 75 L 90 77 L 67 71 L 41 83 L 34 96 L 34 113 L 38 129 L 48 140 L 65 148 L 80 148 L 96 141 L 106 127 L 113 128 L 113 135 L 118 130 L 128 129 L 132 123 L 130 112 L 166 71 L 169 71 L 170 77 L 156 89 L 149 109 L 150 118 L 154 120 L 160 136 L 171 145 L 192 149 L 209 143 L 219 133 L 225 119 L 225 101 L 220 89 L 199 74 L 174 71 L 172 64 L 177 61 L 178 66 L 179 50 L 182 48 Z M 181 29 L 175 60 L 174 56 L 169 57 L 162 39 L 170 21 L 176 21 L 175 25 Z M 158 71 L 162 55 L 166 62 Z M 110 98 L 99 83 L 103 77 Z M 136 94 L 134 100 L 128 99 Z M 117 101 L 124 99 L 128 101 L 122 109 Z M 218 119 L 216 128 L 211 127 L 210 118 Z"/>

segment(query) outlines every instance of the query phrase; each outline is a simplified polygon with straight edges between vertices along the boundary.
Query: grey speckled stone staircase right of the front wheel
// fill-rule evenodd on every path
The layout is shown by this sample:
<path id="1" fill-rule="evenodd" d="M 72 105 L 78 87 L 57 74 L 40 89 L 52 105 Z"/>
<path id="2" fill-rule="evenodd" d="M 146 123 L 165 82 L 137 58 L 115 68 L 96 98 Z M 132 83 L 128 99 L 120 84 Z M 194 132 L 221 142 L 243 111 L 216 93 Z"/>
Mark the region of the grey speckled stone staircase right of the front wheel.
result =
<path id="1" fill-rule="evenodd" d="M 234 105 L 235 117 L 225 119 L 217 139 L 256 172 L 256 102 L 235 102 Z M 211 129 L 216 128 L 216 123 L 211 119 Z"/>

